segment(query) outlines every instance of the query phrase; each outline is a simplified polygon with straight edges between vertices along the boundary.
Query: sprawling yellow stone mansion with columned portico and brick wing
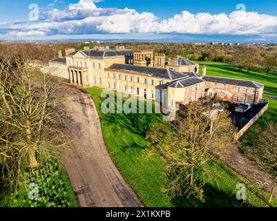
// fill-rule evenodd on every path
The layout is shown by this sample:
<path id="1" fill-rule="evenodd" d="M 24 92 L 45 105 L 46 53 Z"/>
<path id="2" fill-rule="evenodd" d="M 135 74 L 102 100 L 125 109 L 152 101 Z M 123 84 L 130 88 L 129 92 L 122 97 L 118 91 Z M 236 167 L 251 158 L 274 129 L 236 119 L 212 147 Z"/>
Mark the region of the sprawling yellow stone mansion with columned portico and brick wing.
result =
<path id="1" fill-rule="evenodd" d="M 234 103 L 258 104 L 264 86 L 256 81 L 199 75 L 199 65 L 180 56 L 153 55 L 153 50 L 115 50 L 95 47 L 90 50 L 66 49 L 66 55 L 49 61 L 48 72 L 68 79 L 81 87 L 96 86 L 137 95 L 144 99 L 163 100 L 168 108 L 188 104 L 200 97 L 216 96 Z M 166 96 L 161 96 L 161 90 Z"/>

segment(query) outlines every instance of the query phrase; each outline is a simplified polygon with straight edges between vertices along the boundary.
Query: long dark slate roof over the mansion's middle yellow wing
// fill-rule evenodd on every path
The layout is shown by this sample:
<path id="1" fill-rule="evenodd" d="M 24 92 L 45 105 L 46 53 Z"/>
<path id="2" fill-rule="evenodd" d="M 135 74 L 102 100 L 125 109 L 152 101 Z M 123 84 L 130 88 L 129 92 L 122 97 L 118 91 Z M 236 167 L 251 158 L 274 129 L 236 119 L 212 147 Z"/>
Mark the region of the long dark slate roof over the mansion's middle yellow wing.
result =
<path id="1" fill-rule="evenodd" d="M 175 70 L 170 70 L 166 68 L 135 66 L 131 64 L 112 64 L 109 68 L 106 68 L 106 70 L 120 71 L 124 73 L 134 73 L 138 75 L 147 75 L 148 77 L 158 77 L 170 80 L 189 77 L 188 75 L 177 72 Z"/>

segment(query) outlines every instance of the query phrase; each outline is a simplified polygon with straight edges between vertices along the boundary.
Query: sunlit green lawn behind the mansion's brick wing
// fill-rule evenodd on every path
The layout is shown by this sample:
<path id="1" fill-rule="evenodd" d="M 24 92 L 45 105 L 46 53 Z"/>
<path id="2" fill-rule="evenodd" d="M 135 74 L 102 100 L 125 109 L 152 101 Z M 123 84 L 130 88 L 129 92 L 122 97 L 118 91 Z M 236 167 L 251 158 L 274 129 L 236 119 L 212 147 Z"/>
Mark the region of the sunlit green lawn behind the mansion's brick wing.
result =
<path id="1" fill-rule="evenodd" d="M 258 81 L 261 84 L 265 84 L 265 93 L 277 95 L 277 74 L 267 75 L 256 71 L 250 71 L 249 73 L 246 71 L 240 72 L 238 68 L 233 67 L 230 64 L 219 62 L 197 61 L 197 63 L 200 64 L 200 74 L 202 74 L 202 66 L 206 64 L 207 75 Z"/>

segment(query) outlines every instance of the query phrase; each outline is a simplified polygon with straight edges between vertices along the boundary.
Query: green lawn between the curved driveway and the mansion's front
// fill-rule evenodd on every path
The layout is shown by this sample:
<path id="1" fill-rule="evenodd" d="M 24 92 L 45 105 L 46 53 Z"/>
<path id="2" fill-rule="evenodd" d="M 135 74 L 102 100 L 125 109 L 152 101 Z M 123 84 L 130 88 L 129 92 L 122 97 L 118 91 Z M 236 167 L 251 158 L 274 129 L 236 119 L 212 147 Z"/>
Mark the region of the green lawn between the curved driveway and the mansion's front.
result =
<path id="1" fill-rule="evenodd" d="M 215 163 L 209 164 L 212 177 L 204 188 L 205 203 L 186 197 L 169 200 L 162 192 L 165 177 L 160 158 L 146 157 L 148 149 L 144 139 L 149 124 L 160 121 L 162 116 L 154 113 L 104 114 L 101 111 L 103 99 L 97 97 L 101 90 L 88 88 L 86 91 L 93 95 L 111 157 L 146 206 L 242 206 L 242 202 L 236 200 L 236 184 L 241 181 Z M 262 191 L 260 193 L 265 195 Z M 267 206 L 250 191 L 247 192 L 247 203 L 251 206 Z"/>

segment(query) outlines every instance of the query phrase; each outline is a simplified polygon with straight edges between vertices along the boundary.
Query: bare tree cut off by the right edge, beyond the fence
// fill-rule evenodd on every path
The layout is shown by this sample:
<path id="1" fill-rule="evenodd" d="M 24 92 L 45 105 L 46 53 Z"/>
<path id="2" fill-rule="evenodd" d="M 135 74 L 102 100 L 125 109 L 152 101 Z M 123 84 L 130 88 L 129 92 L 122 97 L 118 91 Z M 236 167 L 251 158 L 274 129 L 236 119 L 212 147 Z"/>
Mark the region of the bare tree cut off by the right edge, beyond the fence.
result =
<path id="1" fill-rule="evenodd" d="M 273 180 L 269 198 L 269 203 L 271 203 L 277 186 L 277 124 L 269 122 L 264 130 L 260 129 L 256 134 L 258 136 L 254 140 L 253 148 L 249 149 L 249 153 Z"/>

